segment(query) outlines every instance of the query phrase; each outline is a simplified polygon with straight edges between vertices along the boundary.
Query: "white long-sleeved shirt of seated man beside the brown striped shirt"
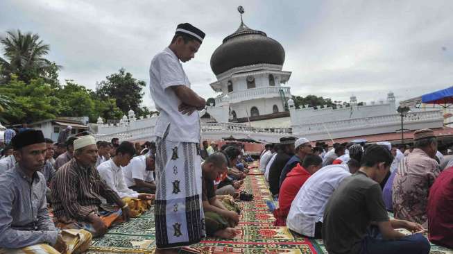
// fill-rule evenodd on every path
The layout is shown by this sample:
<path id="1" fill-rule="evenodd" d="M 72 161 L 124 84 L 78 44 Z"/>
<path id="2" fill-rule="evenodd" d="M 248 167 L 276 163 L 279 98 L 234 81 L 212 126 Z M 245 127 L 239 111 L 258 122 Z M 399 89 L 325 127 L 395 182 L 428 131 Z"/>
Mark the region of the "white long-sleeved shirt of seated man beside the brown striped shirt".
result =
<path id="1" fill-rule="evenodd" d="M 132 189 L 129 189 L 124 182 L 123 171 L 118 167 L 113 160 L 102 162 L 97 167 L 99 175 L 107 183 L 108 187 L 117 192 L 120 198 L 137 198 L 139 194 Z"/>

